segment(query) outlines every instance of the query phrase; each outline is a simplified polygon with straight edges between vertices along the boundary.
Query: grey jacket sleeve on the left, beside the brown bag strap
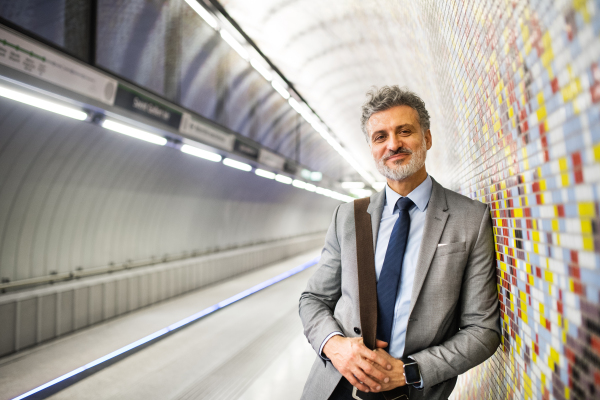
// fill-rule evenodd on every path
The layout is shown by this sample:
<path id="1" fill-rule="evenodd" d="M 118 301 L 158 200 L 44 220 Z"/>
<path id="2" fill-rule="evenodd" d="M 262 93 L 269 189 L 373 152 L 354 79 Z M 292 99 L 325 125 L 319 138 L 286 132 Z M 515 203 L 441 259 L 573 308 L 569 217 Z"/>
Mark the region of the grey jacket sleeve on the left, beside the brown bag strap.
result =
<path id="1" fill-rule="evenodd" d="M 335 305 L 342 295 L 342 266 L 336 223 L 338 210 L 339 206 L 327 230 L 317 269 L 300 296 L 299 311 L 304 334 L 317 354 L 327 336 L 332 332 L 342 332 L 333 317 Z"/>

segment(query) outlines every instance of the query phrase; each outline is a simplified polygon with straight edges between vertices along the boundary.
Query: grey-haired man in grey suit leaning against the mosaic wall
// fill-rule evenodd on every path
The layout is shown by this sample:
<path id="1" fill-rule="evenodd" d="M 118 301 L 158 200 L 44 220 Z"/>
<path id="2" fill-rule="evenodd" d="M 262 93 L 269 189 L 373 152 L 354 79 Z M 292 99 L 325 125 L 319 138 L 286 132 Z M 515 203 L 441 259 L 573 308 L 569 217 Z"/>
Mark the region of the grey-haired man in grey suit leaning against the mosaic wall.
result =
<path id="1" fill-rule="evenodd" d="M 364 211 L 347 203 L 334 212 L 300 298 L 305 335 L 318 354 L 302 398 L 447 399 L 456 377 L 500 343 L 489 207 L 427 174 L 429 114 L 416 94 L 386 86 L 368 95 L 362 128 L 387 186 Z M 357 249 L 371 246 L 360 241 L 365 229 L 356 231 L 365 213 L 376 295 L 359 279 Z M 370 313 L 361 310 L 359 287 L 361 299 L 376 298 Z M 377 332 L 375 349 L 361 335 L 368 329 Z"/>

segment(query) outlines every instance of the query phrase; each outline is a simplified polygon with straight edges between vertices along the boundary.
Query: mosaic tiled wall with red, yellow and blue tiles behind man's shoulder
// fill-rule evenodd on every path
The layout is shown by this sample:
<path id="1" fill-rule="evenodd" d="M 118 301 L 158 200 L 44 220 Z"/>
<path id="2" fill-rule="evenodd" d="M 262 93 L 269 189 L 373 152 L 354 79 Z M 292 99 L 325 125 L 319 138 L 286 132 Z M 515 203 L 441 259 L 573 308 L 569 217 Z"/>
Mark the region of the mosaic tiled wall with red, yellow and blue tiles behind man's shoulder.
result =
<path id="1" fill-rule="evenodd" d="M 452 398 L 598 399 L 600 5 L 418 8 L 454 123 L 441 162 L 491 205 L 497 243 L 502 346 Z"/>

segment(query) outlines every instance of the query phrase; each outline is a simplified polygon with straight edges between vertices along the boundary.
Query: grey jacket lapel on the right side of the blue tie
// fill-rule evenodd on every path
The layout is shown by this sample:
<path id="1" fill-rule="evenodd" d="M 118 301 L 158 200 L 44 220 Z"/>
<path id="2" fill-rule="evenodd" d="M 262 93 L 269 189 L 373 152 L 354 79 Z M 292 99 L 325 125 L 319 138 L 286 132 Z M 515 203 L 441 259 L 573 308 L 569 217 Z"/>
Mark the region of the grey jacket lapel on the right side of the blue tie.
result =
<path id="1" fill-rule="evenodd" d="M 415 307 L 415 303 L 419 298 L 419 293 L 425 282 L 425 277 L 429 271 L 433 254 L 437 249 L 437 245 L 446 226 L 448 219 L 448 203 L 446 202 L 446 193 L 444 188 L 431 178 L 433 183 L 431 188 L 431 198 L 427 206 L 425 215 L 425 227 L 423 228 L 423 240 L 419 250 L 419 258 L 417 260 L 417 269 L 413 282 L 413 291 L 410 299 L 410 313 Z M 381 214 L 380 214 L 381 215 Z"/>

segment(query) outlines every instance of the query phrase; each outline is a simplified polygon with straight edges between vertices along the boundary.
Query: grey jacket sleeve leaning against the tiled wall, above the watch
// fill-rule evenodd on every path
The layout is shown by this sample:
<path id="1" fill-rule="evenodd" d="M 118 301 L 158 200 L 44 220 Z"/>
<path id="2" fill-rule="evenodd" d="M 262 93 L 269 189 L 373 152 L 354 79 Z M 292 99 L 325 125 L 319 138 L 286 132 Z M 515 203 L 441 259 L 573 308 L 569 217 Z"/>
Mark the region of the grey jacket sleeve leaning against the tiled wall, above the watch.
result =
<path id="1" fill-rule="evenodd" d="M 465 268 L 459 300 L 460 330 L 440 345 L 411 354 L 425 388 L 466 372 L 491 357 L 500 344 L 494 236 L 489 206 Z"/>

